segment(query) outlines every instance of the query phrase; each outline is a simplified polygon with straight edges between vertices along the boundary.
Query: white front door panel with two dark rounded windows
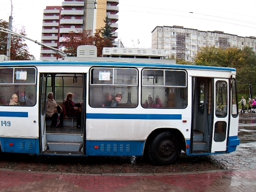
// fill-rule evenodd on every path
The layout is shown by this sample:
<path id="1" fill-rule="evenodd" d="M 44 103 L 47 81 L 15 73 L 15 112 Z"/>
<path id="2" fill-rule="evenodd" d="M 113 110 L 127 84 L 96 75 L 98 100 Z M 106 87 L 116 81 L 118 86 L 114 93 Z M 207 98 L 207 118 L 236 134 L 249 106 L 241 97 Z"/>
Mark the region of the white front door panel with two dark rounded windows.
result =
<path id="1" fill-rule="evenodd" d="M 227 150 L 227 132 L 229 129 L 229 80 L 215 79 L 212 153 Z"/>

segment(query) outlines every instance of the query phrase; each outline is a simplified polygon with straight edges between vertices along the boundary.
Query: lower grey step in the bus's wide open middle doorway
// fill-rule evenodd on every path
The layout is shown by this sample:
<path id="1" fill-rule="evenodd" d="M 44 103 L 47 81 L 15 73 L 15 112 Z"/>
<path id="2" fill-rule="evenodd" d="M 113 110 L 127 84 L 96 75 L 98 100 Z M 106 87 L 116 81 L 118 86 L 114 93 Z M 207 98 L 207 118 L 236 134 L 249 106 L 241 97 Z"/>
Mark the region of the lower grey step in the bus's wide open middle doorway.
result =
<path id="1" fill-rule="evenodd" d="M 79 151 L 82 142 L 48 141 L 47 144 L 51 151 Z"/>

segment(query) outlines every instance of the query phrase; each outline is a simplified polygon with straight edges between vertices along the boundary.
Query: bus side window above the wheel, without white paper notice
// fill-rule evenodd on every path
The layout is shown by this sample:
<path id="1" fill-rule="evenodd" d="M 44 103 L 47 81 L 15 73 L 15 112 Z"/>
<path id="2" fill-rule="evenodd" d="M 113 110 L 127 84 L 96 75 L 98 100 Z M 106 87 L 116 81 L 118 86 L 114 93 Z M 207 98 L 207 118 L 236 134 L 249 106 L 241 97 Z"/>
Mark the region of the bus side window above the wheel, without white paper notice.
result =
<path id="1" fill-rule="evenodd" d="M 143 108 L 186 108 L 187 72 L 144 69 L 141 101 Z"/>

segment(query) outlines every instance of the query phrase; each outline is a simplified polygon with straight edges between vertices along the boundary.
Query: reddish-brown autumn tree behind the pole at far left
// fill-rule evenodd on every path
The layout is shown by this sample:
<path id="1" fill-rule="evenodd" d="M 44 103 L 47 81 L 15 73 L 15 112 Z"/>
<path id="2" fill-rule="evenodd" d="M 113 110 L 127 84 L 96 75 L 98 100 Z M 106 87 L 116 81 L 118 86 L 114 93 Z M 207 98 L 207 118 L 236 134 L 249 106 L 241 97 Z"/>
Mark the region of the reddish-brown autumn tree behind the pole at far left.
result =
<path id="1" fill-rule="evenodd" d="M 8 29 L 9 22 L 0 19 L 0 27 Z M 17 33 L 26 36 L 24 27 Z M 0 55 L 6 55 L 7 52 L 7 33 L 0 32 Z M 10 60 L 35 60 L 34 55 L 29 54 L 29 48 L 25 43 L 25 39 L 20 36 L 12 35 Z"/>

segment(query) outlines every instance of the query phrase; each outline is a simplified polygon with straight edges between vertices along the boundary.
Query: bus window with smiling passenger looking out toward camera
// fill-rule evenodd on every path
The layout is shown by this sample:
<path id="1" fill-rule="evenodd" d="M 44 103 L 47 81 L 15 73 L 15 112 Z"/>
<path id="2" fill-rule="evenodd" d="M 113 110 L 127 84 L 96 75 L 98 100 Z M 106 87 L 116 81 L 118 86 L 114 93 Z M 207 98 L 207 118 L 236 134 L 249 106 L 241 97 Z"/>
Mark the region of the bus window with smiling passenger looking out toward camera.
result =
<path id="1" fill-rule="evenodd" d="M 138 71 L 130 68 L 93 68 L 90 70 L 89 104 L 94 108 L 109 108 L 116 94 L 122 99 L 118 108 L 138 106 Z"/>

